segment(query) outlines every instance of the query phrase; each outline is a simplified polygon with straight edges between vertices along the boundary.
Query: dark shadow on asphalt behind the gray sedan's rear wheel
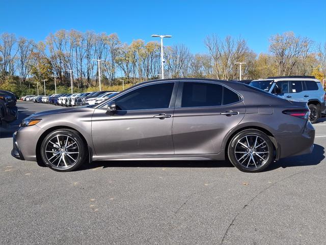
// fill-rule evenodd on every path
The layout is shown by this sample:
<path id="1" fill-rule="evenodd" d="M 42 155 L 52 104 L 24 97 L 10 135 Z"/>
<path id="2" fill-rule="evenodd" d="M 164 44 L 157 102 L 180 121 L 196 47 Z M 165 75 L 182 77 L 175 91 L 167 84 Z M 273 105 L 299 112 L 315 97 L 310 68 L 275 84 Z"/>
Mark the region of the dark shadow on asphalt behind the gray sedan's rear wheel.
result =
<path id="1" fill-rule="evenodd" d="M 325 149 L 319 144 L 314 144 L 314 150 L 311 154 L 287 157 L 270 164 L 266 171 L 277 168 L 297 167 L 297 166 L 313 166 L 319 164 L 325 158 Z"/>

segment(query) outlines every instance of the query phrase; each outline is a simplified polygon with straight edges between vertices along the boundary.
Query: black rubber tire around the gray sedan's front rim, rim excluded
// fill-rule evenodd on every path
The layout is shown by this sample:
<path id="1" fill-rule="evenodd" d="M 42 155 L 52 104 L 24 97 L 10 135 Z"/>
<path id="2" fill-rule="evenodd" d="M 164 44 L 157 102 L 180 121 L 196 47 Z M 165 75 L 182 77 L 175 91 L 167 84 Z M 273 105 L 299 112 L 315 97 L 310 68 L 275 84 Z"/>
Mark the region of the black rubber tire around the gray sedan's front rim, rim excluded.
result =
<path id="1" fill-rule="evenodd" d="M 58 167 L 55 167 L 53 166 L 46 158 L 46 155 L 45 155 L 45 147 L 46 147 L 46 144 L 48 142 L 49 139 L 51 139 L 53 136 L 56 136 L 56 135 L 67 135 L 69 137 L 71 137 L 72 139 L 74 139 L 78 145 L 78 149 L 79 149 L 79 156 L 76 160 L 76 163 L 68 168 L 58 168 Z M 46 166 L 50 167 L 51 169 L 53 170 L 56 170 L 56 171 L 60 171 L 60 172 L 64 172 L 64 171 L 72 171 L 76 168 L 78 168 L 80 165 L 82 165 L 85 160 L 86 160 L 86 157 L 87 157 L 87 154 L 86 154 L 86 145 L 83 141 L 83 139 L 79 136 L 79 134 L 73 130 L 68 130 L 68 129 L 65 129 L 65 130 L 56 130 L 56 131 L 53 131 L 51 133 L 49 133 L 42 141 L 42 144 L 41 144 L 41 148 L 40 148 L 40 151 L 41 151 L 41 158 L 42 158 L 42 161 L 45 163 Z"/>

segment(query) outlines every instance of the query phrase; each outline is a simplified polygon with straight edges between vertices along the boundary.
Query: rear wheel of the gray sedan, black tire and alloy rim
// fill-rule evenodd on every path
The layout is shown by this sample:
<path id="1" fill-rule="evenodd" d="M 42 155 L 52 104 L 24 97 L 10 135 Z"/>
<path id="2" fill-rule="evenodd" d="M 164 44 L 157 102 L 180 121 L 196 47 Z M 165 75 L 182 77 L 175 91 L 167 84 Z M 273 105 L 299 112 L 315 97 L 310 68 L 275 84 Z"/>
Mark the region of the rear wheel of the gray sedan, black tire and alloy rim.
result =
<path id="1" fill-rule="evenodd" d="M 254 148 L 255 145 L 258 147 Z M 228 146 L 228 157 L 231 163 L 247 173 L 263 171 L 274 160 L 274 155 L 273 142 L 265 133 L 256 129 L 237 133 Z"/>

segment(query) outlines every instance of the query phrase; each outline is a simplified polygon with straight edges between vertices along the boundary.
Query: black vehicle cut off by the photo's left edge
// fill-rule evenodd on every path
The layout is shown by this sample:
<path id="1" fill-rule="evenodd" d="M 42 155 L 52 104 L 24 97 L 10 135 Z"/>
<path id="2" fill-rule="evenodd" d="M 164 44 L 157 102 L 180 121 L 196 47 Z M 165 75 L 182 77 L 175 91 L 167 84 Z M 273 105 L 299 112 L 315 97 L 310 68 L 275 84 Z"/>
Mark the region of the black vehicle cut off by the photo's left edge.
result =
<path id="1" fill-rule="evenodd" d="M 16 96 L 12 92 L 0 90 L 0 126 L 17 119 Z"/>

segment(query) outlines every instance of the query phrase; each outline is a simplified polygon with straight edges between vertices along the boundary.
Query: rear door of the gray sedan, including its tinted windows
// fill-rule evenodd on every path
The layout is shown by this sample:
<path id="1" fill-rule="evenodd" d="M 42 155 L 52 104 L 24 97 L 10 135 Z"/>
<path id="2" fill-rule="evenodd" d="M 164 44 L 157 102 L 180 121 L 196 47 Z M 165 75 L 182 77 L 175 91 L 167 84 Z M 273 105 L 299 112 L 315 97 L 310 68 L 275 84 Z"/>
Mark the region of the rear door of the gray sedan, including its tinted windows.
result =
<path id="1" fill-rule="evenodd" d="M 221 84 L 179 83 L 172 126 L 175 154 L 217 154 L 246 107 L 241 96 Z"/>

